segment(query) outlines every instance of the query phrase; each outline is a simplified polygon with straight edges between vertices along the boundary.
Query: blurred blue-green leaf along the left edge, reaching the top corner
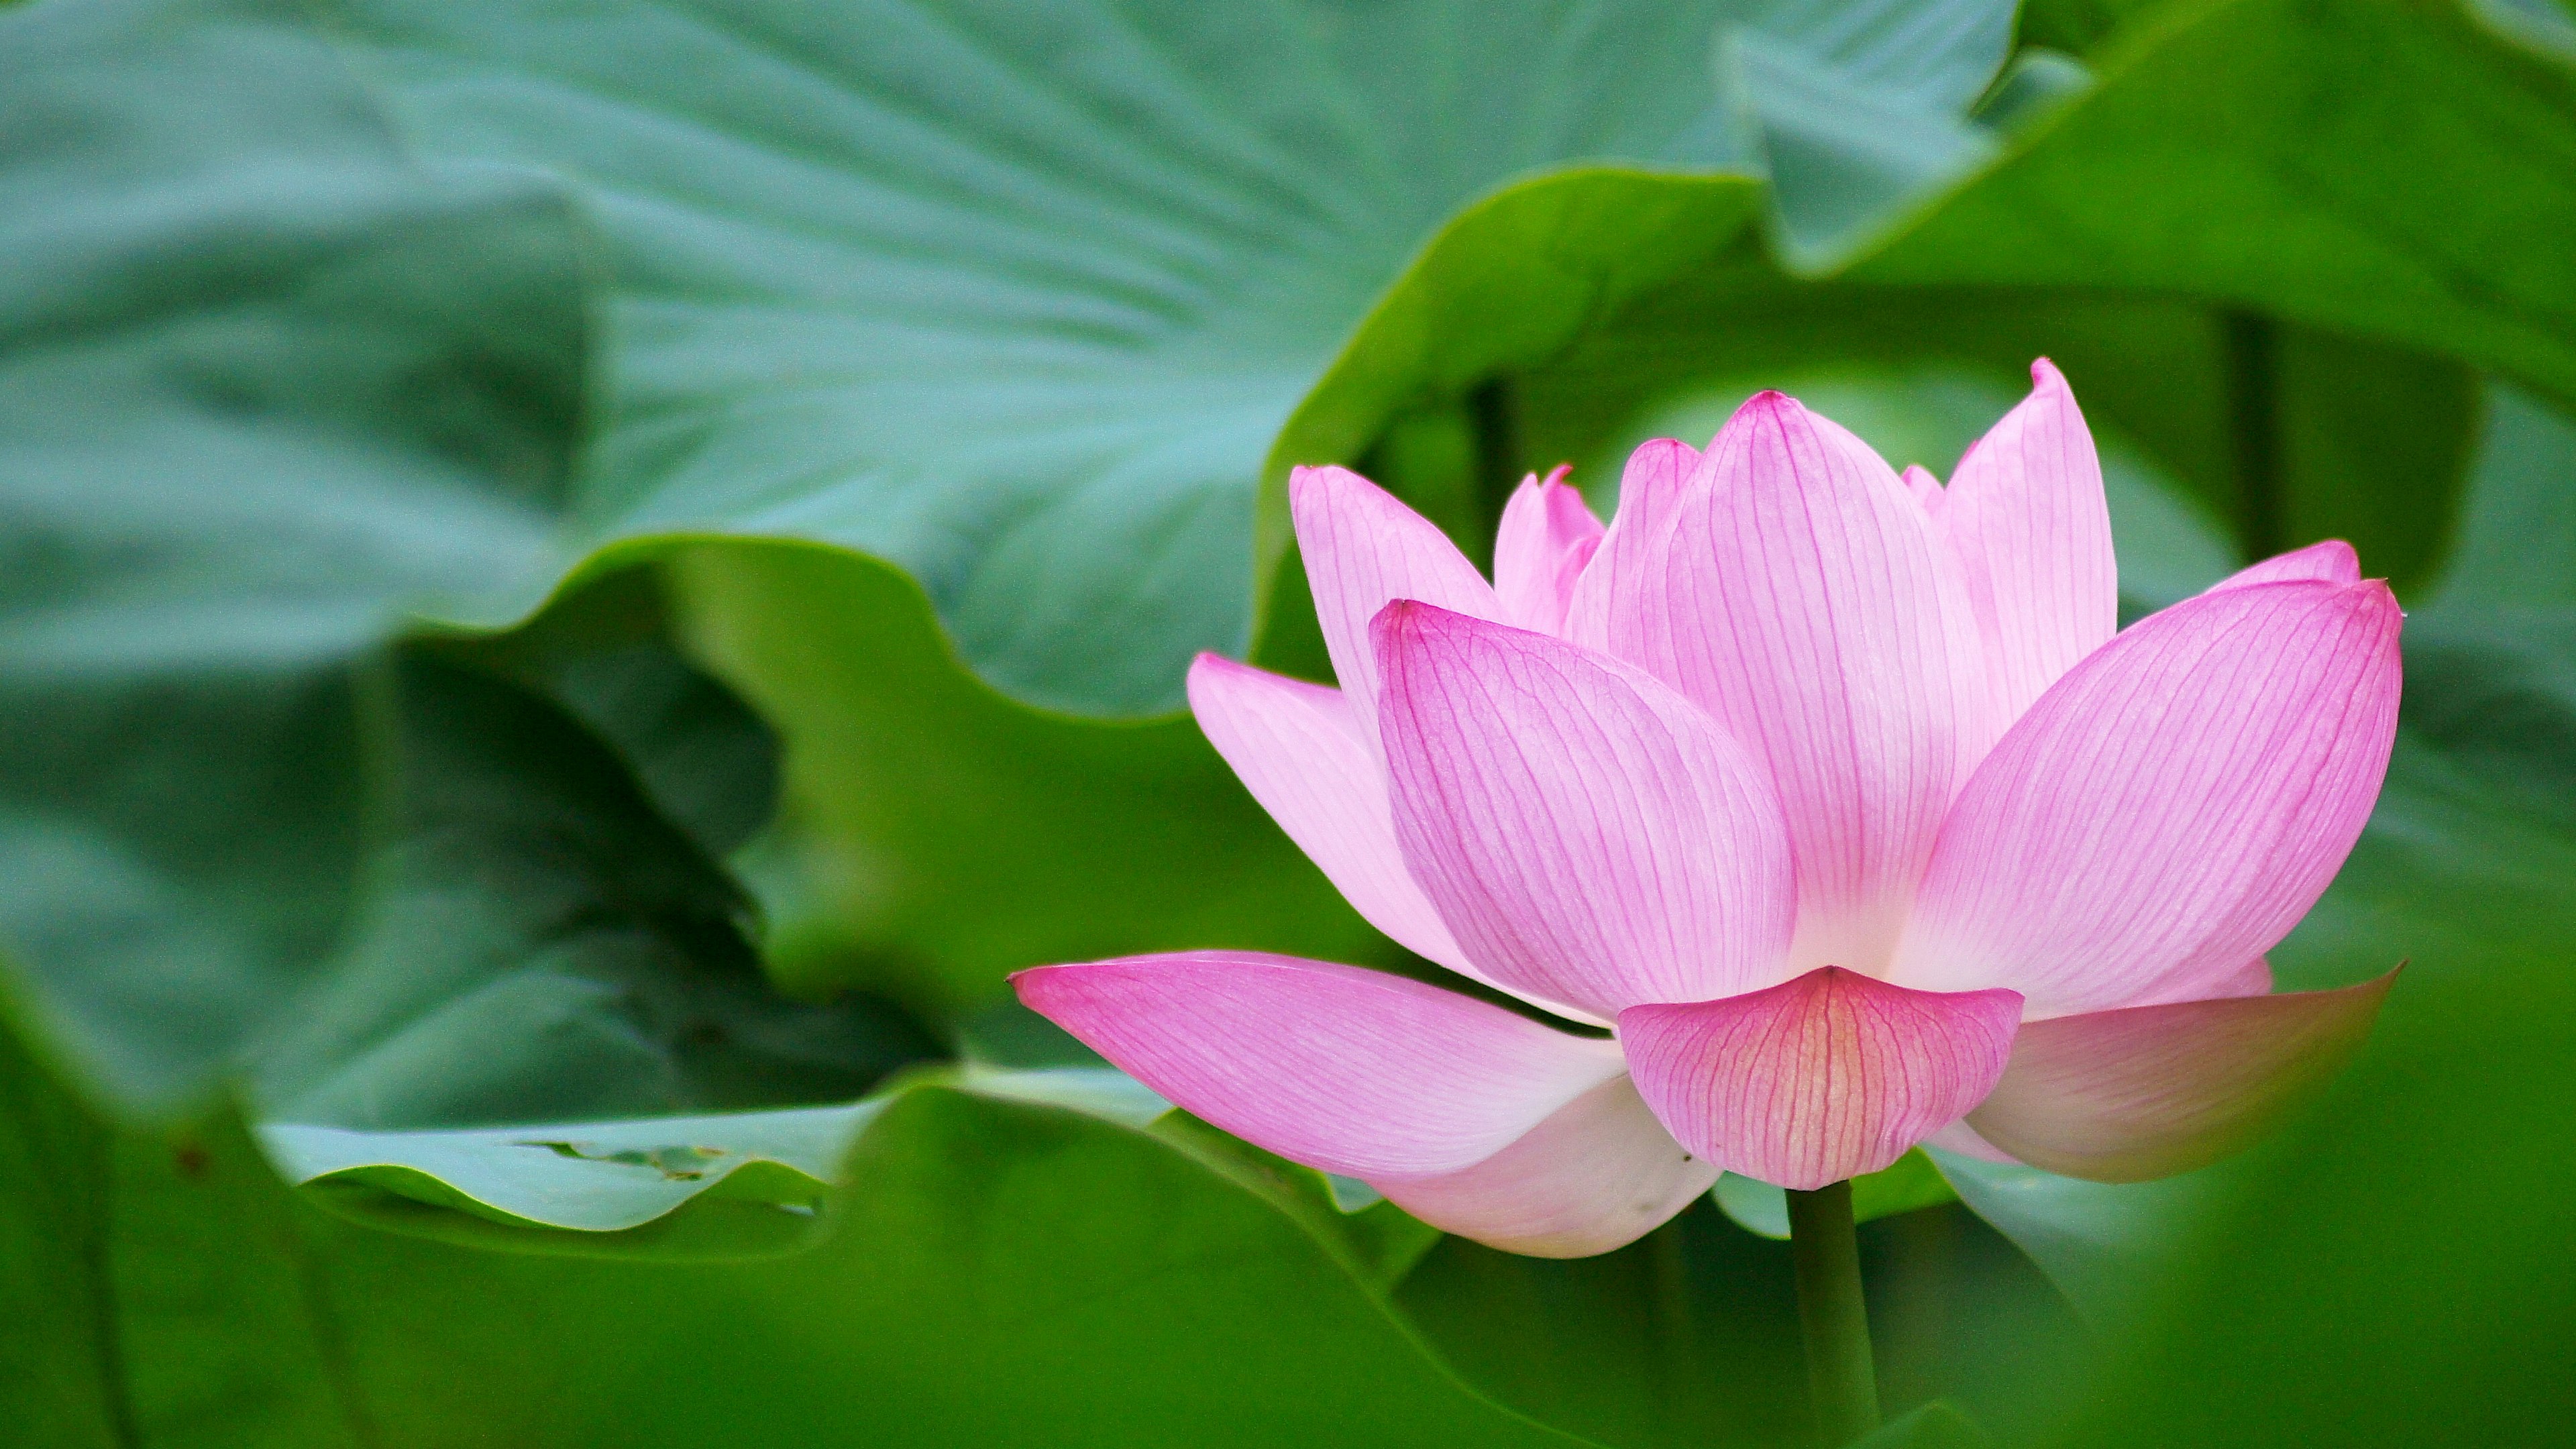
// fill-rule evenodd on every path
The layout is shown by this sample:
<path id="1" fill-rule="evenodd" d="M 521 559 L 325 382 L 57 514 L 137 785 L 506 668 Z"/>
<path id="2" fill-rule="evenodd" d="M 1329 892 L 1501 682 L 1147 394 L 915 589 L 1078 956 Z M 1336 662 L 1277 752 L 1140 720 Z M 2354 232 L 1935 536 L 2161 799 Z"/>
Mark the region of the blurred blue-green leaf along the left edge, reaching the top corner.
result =
<path id="1" fill-rule="evenodd" d="M 343 928 L 353 663 L 564 565 L 567 206 L 415 165 L 294 15 L 0 15 L 0 954 L 155 1111 Z"/>

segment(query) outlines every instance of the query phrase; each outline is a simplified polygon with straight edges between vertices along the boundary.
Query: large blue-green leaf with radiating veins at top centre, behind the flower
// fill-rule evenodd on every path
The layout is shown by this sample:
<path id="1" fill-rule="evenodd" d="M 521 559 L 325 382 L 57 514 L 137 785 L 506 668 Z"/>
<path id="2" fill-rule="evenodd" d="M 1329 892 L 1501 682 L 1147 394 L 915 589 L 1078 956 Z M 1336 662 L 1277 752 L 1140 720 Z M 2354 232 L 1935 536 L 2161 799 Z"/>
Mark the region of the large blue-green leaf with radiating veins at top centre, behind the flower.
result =
<path id="1" fill-rule="evenodd" d="M 343 26 L 428 147 L 574 178 L 608 229 L 595 539 L 860 549 L 1012 696 L 1162 712 L 1190 652 L 1247 642 L 1255 469 L 1352 322 L 1502 180 L 1705 160 L 1716 13 L 358 0 Z"/>

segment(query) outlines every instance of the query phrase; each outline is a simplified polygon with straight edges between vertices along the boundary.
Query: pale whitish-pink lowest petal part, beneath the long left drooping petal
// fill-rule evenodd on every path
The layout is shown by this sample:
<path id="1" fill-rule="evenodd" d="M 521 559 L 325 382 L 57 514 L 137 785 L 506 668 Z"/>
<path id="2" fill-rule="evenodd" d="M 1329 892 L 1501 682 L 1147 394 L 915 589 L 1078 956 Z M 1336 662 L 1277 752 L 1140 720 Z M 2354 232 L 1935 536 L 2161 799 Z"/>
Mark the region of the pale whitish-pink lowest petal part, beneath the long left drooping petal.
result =
<path id="1" fill-rule="evenodd" d="M 1504 1253 L 1584 1258 L 1636 1243 L 1718 1181 L 1618 1075 L 1473 1168 L 1370 1183 L 1422 1222 Z"/>

